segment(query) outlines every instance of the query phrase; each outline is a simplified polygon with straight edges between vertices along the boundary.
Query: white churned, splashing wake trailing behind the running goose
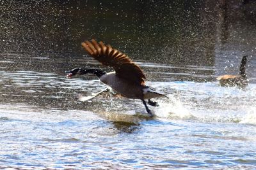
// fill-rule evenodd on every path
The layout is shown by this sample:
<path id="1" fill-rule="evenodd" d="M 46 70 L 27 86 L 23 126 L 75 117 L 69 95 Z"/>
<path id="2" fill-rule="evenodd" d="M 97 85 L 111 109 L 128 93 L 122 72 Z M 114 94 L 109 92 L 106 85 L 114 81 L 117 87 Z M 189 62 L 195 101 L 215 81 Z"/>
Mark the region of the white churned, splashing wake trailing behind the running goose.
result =
<path id="1" fill-rule="evenodd" d="M 154 109 L 157 117 L 199 122 L 256 124 L 255 86 L 247 90 L 218 87 L 216 83 L 186 82 L 177 95 L 162 100 Z M 173 86 L 175 87 L 175 86 Z M 189 90 L 189 88 L 191 90 Z"/>

